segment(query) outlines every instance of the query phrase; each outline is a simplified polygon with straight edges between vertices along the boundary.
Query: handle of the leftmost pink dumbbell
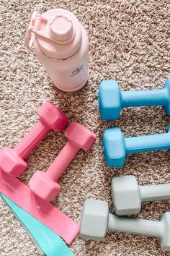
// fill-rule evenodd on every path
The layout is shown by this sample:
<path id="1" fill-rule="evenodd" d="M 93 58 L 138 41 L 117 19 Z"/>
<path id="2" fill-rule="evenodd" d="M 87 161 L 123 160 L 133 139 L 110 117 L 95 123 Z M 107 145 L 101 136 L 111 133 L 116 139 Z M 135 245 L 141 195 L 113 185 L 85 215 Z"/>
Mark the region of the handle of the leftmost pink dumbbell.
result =
<path id="1" fill-rule="evenodd" d="M 48 132 L 50 128 L 45 127 L 42 121 L 38 121 L 35 127 L 15 146 L 15 153 L 22 159 L 27 158 L 27 155 L 48 135 Z"/>

